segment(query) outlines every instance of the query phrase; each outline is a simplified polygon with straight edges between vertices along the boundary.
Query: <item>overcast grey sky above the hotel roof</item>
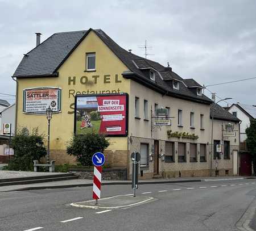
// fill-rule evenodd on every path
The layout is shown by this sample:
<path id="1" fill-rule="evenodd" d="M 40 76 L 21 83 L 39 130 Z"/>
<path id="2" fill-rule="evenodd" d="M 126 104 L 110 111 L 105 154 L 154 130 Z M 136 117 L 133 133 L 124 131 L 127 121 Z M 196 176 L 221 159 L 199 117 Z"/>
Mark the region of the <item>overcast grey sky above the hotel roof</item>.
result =
<path id="1" fill-rule="evenodd" d="M 170 66 L 183 78 L 212 85 L 256 77 L 256 1 L 0 0 L 0 93 L 23 57 L 55 32 L 101 28 L 125 49 Z M 230 103 L 256 104 L 256 79 L 208 87 Z M 208 94 L 208 91 L 205 91 Z M 0 95 L 13 102 L 13 98 Z M 225 104 L 222 104 L 225 105 Z"/>

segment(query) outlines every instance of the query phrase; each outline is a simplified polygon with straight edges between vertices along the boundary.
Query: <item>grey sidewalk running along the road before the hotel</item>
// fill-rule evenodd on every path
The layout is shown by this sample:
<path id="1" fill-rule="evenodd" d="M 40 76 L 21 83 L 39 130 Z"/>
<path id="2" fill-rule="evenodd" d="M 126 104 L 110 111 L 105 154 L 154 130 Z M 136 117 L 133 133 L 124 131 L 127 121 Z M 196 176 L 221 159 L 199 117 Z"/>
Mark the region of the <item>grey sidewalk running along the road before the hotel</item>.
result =
<path id="1" fill-rule="evenodd" d="M 170 178 L 170 179 L 150 179 L 139 180 L 139 184 L 163 184 L 163 183 L 181 183 L 181 182 L 202 182 L 202 181 L 222 181 L 222 180 L 239 180 L 244 177 L 191 177 L 191 178 Z M 102 180 L 102 185 L 131 184 L 130 180 Z M 46 188 L 71 188 L 71 187 L 88 187 L 92 186 L 92 180 L 73 179 L 59 182 L 45 182 L 36 184 L 18 184 L 13 186 L 2 186 L 0 192 L 8 191 L 25 191 L 25 190 L 42 190 Z"/>

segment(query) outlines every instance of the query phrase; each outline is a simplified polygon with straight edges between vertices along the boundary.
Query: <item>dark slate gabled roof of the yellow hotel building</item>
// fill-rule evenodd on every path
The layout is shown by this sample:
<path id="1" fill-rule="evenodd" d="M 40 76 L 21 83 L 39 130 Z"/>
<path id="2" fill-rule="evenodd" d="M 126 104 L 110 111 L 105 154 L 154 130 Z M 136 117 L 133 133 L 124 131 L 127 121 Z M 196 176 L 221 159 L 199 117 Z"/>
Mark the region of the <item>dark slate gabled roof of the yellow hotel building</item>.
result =
<path id="1" fill-rule="evenodd" d="M 172 88 L 167 79 L 178 79 L 183 81 L 171 68 L 167 69 L 158 62 L 137 56 L 121 48 L 102 30 L 72 31 L 55 33 L 43 43 L 27 53 L 20 62 L 13 77 L 33 78 L 33 77 L 57 77 L 58 69 L 69 55 L 76 49 L 81 41 L 94 31 L 98 37 L 109 47 L 109 49 L 127 66 L 129 72 L 123 73 L 124 78 L 133 79 L 142 85 L 154 89 L 163 95 L 170 95 L 176 98 L 191 100 L 199 103 L 210 104 L 207 96 L 199 96 L 188 89 L 184 84 L 180 84 L 180 90 Z M 156 70 L 156 81 L 152 82 L 147 78 L 140 68 L 152 68 Z M 166 81 L 165 81 L 166 79 Z"/>

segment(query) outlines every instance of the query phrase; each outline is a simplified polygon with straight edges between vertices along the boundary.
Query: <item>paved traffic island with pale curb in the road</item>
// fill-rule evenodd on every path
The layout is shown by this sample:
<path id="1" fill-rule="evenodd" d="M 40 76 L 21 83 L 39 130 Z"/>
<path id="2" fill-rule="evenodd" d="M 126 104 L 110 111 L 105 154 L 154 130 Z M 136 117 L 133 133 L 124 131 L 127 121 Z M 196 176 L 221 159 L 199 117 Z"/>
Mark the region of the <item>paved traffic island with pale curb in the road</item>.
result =
<path id="1" fill-rule="evenodd" d="M 81 202 L 74 202 L 71 203 L 70 205 L 77 208 L 122 209 L 138 206 L 154 200 L 155 198 L 152 198 L 151 196 L 133 196 L 133 194 L 129 194 L 117 195 L 109 198 L 102 198 L 98 200 L 98 204 L 95 204 L 95 200 L 87 200 Z"/>

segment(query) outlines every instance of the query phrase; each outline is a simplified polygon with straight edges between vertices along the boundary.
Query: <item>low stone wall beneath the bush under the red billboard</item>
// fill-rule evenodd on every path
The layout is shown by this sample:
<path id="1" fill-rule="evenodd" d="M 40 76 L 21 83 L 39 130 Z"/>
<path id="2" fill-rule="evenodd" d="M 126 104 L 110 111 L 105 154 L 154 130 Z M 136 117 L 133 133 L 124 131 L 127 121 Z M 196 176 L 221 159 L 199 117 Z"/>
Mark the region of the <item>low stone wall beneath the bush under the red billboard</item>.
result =
<path id="1" fill-rule="evenodd" d="M 80 179 L 93 179 L 93 169 L 69 169 Z M 127 169 L 102 169 L 102 180 L 127 180 Z"/>

